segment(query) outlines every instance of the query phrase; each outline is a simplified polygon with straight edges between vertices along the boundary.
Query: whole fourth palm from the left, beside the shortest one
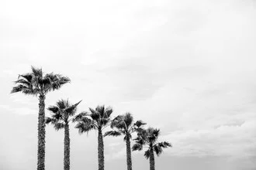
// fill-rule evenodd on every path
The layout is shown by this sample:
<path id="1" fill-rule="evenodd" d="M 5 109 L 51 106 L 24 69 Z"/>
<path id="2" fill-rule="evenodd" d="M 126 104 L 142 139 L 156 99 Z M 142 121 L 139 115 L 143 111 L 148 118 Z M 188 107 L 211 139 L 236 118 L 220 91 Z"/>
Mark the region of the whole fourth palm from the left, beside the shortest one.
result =
<path id="1" fill-rule="evenodd" d="M 137 121 L 133 124 L 133 116 L 130 113 L 117 116 L 112 120 L 110 127 L 116 130 L 107 131 L 104 136 L 119 136 L 124 135 L 123 140 L 126 141 L 126 164 L 127 170 L 132 170 L 132 155 L 130 150 L 130 139 L 134 131 L 139 131 L 144 125 L 142 121 Z"/>

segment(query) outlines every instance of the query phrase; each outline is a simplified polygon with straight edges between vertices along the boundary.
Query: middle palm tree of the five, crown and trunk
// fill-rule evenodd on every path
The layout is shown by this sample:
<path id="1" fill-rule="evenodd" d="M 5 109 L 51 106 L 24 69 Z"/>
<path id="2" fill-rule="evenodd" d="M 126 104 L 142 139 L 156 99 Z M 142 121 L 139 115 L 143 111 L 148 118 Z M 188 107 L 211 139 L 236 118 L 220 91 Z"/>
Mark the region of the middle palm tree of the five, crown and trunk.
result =
<path id="1" fill-rule="evenodd" d="M 98 131 L 98 163 L 99 170 L 104 170 L 104 143 L 102 130 L 109 125 L 110 115 L 112 114 L 111 107 L 98 106 L 94 109 L 89 108 L 90 114 L 82 112 L 74 118 L 78 121 L 75 128 L 78 128 L 80 134 L 95 130 Z"/>

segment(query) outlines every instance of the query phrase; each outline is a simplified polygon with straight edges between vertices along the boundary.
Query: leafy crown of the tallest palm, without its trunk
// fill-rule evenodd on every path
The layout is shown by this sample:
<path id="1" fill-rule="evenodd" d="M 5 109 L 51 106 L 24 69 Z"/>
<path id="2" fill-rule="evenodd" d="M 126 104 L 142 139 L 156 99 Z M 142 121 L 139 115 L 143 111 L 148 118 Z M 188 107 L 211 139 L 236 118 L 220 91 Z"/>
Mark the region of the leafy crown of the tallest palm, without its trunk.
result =
<path id="1" fill-rule="evenodd" d="M 42 69 L 31 67 L 32 73 L 25 73 L 18 76 L 15 81 L 16 87 L 12 88 L 11 93 L 22 92 L 36 96 L 40 94 L 44 96 L 51 90 L 58 90 L 65 83 L 69 83 L 70 79 L 61 74 L 47 73 L 43 75 Z"/>

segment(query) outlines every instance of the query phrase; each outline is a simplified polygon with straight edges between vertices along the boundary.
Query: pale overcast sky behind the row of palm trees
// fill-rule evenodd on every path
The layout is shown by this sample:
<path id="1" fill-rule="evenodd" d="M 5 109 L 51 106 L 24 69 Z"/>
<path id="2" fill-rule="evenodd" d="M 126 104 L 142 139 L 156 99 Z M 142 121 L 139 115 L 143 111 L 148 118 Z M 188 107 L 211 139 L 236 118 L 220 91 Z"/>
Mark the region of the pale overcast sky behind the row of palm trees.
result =
<path id="1" fill-rule="evenodd" d="M 255 169 L 255 30 L 254 0 L 2 0 L 0 169 L 36 168 L 38 100 L 9 93 L 31 65 L 71 78 L 47 106 L 106 104 L 161 128 L 174 147 L 158 170 Z M 47 169 L 62 169 L 64 131 L 46 140 Z M 125 169 L 123 138 L 104 140 L 106 170 Z M 97 165 L 96 133 L 71 128 L 71 169 Z"/>

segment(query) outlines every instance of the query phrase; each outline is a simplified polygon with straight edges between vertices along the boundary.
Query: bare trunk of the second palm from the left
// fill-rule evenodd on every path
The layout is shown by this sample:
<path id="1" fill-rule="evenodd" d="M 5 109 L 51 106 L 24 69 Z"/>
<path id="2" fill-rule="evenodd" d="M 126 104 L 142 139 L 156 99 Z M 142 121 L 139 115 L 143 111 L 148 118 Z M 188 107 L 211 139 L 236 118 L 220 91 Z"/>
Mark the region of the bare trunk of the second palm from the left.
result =
<path id="1" fill-rule="evenodd" d="M 69 138 L 69 126 L 65 124 L 65 136 L 64 136 L 64 170 L 70 169 L 70 138 Z"/>

